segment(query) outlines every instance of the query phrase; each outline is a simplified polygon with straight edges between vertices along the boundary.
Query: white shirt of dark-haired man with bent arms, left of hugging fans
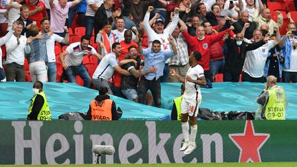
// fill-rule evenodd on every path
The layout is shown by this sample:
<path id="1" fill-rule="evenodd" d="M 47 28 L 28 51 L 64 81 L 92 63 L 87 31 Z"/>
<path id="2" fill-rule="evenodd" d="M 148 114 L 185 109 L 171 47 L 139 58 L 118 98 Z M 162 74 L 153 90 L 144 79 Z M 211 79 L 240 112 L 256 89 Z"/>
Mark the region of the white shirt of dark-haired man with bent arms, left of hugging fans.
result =
<path id="1" fill-rule="evenodd" d="M 66 48 L 67 56 L 65 57 L 65 63 L 71 66 L 78 66 L 83 62 L 83 58 L 87 54 L 96 54 L 96 49 L 91 45 L 88 45 L 86 50 L 82 50 L 80 42 L 72 43 Z"/>

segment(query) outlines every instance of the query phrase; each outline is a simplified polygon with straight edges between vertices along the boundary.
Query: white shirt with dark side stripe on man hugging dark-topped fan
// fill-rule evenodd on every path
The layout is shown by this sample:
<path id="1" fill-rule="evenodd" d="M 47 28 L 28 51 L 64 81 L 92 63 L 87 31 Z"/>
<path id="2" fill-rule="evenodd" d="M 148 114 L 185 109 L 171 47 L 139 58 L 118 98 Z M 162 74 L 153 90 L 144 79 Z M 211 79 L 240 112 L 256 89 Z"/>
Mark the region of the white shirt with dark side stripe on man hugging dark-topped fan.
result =
<path id="1" fill-rule="evenodd" d="M 117 65 L 118 59 L 115 58 L 115 54 L 113 54 L 113 52 L 105 55 L 96 68 L 92 78 L 103 78 L 104 80 L 109 80 L 113 76 L 113 72 L 115 71 L 113 67 Z"/>

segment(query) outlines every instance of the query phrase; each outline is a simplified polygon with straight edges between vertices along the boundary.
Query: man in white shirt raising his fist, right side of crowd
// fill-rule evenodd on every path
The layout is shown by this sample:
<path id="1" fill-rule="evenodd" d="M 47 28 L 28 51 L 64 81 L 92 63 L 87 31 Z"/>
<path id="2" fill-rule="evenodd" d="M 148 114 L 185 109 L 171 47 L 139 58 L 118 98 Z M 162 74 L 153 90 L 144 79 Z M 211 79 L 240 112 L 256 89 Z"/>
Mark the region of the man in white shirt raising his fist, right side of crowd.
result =
<path id="1" fill-rule="evenodd" d="M 267 41 L 266 44 L 258 49 L 250 50 L 246 54 L 245 63 L 243 65 L 243 74 L 241 80 L 243 82 L 265 82 L 264 67 L 270 49 L 278 44 L 281 35 L 278 27 L 274 27 L 276 31 L 276 39 Z M 251 42 L 259 42 L 268 34 L 262 34 L 261 30 L 254 30 Z M 247 41 L 248 42 L 248 41 Z"/>

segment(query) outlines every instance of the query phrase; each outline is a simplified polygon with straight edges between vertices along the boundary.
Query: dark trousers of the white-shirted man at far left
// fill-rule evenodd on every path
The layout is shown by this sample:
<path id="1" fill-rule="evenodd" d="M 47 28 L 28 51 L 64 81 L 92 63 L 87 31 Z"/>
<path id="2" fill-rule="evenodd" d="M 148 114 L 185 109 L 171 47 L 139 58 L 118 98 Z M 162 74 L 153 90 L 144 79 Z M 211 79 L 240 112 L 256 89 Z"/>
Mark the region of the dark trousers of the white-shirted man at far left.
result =
<path id="1" fill-rule="evenodd" d="M 16 80 L 17 82 L 25 81 L 25 68 L 23 65 L 19 65 L 18 63 L 10 63 L 6 64 L 5 68 L 6 81 Z"/>

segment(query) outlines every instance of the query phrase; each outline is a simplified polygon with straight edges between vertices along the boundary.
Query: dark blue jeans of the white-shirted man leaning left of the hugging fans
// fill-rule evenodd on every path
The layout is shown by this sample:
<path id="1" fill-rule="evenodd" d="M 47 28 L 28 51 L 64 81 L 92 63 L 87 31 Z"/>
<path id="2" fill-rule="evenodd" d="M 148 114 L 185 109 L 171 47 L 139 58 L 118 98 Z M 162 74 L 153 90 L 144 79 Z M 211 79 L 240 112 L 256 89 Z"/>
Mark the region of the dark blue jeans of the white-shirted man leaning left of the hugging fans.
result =
<path id="1" fill-rule="evenodd" d="M 90 87 L 91 86 L 91 77 L 89 76 L 89 73 L 87 72 L 87 69 L 85 68 L 85 65 L 81 63 L 78 66 L 69 66 L 66 69 L 66 74 L 68 76 L 68 82 L 76 82 L 76 75 L 74 75 L 72 71 L 72 67 L 74 67 L 80 76 L 80 78 L 84 81 L 84 87 Z"/>

